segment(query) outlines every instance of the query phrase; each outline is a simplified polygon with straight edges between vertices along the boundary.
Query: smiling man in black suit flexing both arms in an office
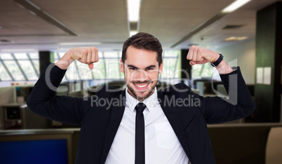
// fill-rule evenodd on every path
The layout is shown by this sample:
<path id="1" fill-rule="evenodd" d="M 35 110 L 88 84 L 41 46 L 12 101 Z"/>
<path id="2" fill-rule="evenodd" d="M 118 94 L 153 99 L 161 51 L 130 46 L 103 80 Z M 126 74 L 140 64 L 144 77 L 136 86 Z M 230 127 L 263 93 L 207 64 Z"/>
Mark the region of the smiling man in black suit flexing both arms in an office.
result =
<path id="1" fill-rule="evenodd" d="M 98 62 L 96 48 L 72 48 L 46 66 L 27 105 L 41 116 L 81 125 L 76 163 L 215 163 L 206 124 L 243 118 L 255 109 L 241 71 L 231 69 L 219 53 L 192 46 L 187 60 L 214 64 L 227 93 L 233 93 L 232 104 L 196 95 L 182 83 L 157 92 L 161 54 L 158 39 L 138 33 L 123 44 L 120 67 L 126 90 L 103 86 L 94 98 L 54 97 L 50 86 L 60 85 L 73 60 L 90 69 Z M 110 102 L 109 107 L 99 100 Z"/>

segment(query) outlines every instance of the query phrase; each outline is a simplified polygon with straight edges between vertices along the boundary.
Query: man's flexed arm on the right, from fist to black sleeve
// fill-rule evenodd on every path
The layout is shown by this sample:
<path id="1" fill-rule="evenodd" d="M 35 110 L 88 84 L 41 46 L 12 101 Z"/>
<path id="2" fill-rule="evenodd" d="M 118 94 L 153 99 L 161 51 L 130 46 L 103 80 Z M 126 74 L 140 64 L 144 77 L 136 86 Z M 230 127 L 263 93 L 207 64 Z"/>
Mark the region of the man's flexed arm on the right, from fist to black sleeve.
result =
<path id="1" fill-rule="evenodd" d="M 213 63 L 219 57 L 219 53 L 197 46 L 192 46 L 187 55 L 187 59 L 191 60 L 190 64 L 192 65 L 204 64 L 206 62 Z M 206 118 L 206 122 L 223 123 L 252 114 L 255 109 L 255 103 L 243 80 L 240 68 L 231 69 L 224 60 L 215 68 L 220 73 L 229 99 L 225 97 L 200 97 L 201 111 Z"/>

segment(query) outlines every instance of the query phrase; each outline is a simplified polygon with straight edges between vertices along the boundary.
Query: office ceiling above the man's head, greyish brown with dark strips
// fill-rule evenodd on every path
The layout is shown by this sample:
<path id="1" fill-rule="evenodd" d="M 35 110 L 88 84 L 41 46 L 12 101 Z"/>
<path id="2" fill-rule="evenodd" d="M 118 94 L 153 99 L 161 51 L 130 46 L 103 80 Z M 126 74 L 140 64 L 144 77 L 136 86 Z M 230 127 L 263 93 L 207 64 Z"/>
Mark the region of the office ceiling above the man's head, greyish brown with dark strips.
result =
<path id="1" fill-rule="evenodd" d="M 216 17 L 233 1 L 142 0 L 139 32 L 156 36 L 164 49 L 189 48 L 192 44 L 216 49 L 237 42 L 224 41 L 230 36 L 254 39 L 256 12 L 276 0 L 253 0 L 233 13 Z M 242 27 L 222 29 L 227 25 Z M 129 36 L 128 26 L 126 0 L 1 0 L 0 52 L 67 50 L 74 46 L 121 50 Z"/>

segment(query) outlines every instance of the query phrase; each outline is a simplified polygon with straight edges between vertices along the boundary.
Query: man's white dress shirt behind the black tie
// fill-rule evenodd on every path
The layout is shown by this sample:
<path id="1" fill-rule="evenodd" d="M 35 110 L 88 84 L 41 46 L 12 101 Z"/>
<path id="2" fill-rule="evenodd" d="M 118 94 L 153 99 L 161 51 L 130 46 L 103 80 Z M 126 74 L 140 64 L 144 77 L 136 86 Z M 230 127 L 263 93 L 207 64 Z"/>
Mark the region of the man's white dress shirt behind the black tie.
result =
<path id="1" fill-rule="evenodd" d="M 182 148 L 168 118 L 163 113 L 154 93 L 143 101 L 145 120 L 145 163 L 187 164 L 188 157 Z M 139 101 L 129 95 L 126 88 L 126 109 L 107 156 L 107 164 L 135 163 L 135 106 Z"/>

